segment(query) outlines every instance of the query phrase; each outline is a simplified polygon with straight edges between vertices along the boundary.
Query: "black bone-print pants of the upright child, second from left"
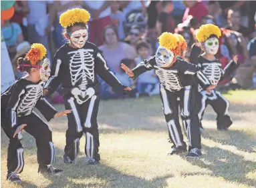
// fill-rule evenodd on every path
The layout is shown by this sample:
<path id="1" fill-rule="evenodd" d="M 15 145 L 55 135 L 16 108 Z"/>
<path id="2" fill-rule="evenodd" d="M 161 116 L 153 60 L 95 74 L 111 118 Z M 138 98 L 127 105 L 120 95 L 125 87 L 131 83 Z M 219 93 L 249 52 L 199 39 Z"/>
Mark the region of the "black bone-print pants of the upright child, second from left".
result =
<path id="1" fill-rule="evenodd" d="M 64 96 L 66 109 L 72 109 L 68 114 L 68 130 L 66 131 L 65 153 L 72 160 L 76 160 L 79 153 L 79 143 L 83 133 L 86 135 L 86 155 L 100 161 L 99 132 L 98 132 L 98 107 L 99 97 L 94 95 L 91 99 L 79 105 L 71 96 Z"/>

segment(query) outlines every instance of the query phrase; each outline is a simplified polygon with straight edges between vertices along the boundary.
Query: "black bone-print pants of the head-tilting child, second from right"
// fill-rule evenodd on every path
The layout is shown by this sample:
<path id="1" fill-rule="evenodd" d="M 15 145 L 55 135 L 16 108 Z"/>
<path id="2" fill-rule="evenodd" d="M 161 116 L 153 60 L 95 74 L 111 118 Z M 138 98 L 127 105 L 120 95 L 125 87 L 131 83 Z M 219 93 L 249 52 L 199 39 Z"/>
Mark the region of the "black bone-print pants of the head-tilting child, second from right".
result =
<path id="1" fill-rule="evenodd" d="M 170 92 L 160 84 L 160 97 L 164 109 L 164 116 L 168 125 L 169 137 L 175 147 L 184 144 L 180 122 L 178 119 L 178 105 L 180 105 L 181 119 L 184 132 L 188 138 L 188 150 L 201 149 L 201 133 L 197 103 L 197 88 L 189 85 L 180 91 Z M 180 101 L 177 101 L 177 98 Z"/>

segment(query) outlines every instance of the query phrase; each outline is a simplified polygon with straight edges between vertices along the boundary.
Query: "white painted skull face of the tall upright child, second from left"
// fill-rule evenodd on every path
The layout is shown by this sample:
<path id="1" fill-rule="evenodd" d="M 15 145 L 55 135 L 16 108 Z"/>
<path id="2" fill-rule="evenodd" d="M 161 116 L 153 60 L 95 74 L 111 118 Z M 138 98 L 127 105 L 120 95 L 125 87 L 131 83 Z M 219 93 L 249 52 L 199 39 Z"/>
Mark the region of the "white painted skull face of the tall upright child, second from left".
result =
<path id="1" fill-rule="evenodd" d="M 72 43 L 74 44 L 74 46 L 76 46 L 78 48 L 84 47 L 84 44 L 86 43 L 86 41 L 88 39 L 87 29 L 80 29 L 78 31 L 74 31 L 71 34 L 70 39 L 71 39 Z"/>

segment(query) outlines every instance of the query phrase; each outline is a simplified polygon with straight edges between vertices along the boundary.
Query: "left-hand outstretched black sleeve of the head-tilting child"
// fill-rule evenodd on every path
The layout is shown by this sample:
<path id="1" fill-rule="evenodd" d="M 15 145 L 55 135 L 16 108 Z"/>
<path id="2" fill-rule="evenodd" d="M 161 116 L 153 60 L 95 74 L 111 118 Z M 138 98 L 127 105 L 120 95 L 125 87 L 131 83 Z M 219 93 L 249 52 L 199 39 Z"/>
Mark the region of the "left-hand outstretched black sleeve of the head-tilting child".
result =
<path id="1" fill-rule="evenodd" d="M 154 56 L 152 56 L 148 60 L 142 61 L 134 69 L 132 69 L 132 72 L 134 73 L 134 77 L 132 77 L 132 79 L 136 79 L 136 77 L 138 77 L 142 73 L 154 69 L 155 64 L 156 64 L 156 59 Z"/>

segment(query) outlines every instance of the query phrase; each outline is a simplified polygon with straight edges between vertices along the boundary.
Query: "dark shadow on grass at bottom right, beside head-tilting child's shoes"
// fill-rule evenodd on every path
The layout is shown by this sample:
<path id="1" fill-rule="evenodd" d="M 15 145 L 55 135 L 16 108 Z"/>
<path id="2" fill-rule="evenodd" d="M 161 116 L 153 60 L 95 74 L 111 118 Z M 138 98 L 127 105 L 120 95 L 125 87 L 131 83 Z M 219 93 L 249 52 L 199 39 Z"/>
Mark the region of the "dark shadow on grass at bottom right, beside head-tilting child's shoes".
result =
<path id="1" fill-rule="evenodd" d="M 243 183 L 252 187 L 256 185 L 255 179 L 247 178 L 247 174 L 249 172 L 255 171 L 256 162 L 247 161 L 244 157 L 219 147 L 208 147 L 203 145 L 203 151 L 205 151 L 205 155 L 199 159 L 185 160 L 190 162 L 192 165 L 209 169 L 212 172 L 211 175 L 223 177 L 227 181 Z M 209 163 L 206 164 L 201 159 L 209 161 Z M 186 175 L 186 173 L 184 175 Z M 187 175 L 190 175 L 190 173 Z"/>

